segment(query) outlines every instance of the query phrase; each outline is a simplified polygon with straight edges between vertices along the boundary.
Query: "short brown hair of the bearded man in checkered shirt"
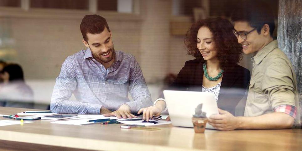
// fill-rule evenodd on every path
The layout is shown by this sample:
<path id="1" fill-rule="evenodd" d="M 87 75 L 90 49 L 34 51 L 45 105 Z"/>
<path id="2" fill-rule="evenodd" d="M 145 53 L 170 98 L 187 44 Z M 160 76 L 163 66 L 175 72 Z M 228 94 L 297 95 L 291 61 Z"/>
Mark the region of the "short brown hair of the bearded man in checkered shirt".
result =
<path id="1" fill-rule="evenodd" d="M 105 27 L 110 31 L 107 21 L 99 15 L 86 15 L 81 22 L 80 29 L 83 39 L 88 42 L 87 33 L 98 34 L 104 31 Z"/>

